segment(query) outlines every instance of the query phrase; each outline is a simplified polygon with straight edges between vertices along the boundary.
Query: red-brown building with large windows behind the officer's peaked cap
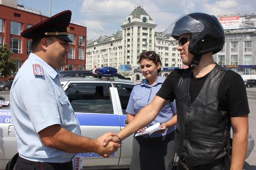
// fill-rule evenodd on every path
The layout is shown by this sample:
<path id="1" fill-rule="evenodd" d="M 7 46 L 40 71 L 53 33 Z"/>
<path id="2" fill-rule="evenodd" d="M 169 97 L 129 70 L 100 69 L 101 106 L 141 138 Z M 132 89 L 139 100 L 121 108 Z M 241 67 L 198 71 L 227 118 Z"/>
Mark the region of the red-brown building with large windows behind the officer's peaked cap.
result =
<path id="1" fill-rule="evenodd" d="M 40 11 L 18 5 L 17 0 L 0 1 L 0 45 L 7 44 L 7 47 L 14 53 L 14 58 L 19 58 L 15 72 L 32 52 L 32 40 L 21 37 L 20 33 L 47 18 Z M 67 66 L 62 70 L 81 70 L 82 66 L 85 68 L 86 27 L 71 23 L 69 30 L 69 37 L 74 42 L 71 43 Z M 12 76 L 15 76 L 15 73 Z"/>

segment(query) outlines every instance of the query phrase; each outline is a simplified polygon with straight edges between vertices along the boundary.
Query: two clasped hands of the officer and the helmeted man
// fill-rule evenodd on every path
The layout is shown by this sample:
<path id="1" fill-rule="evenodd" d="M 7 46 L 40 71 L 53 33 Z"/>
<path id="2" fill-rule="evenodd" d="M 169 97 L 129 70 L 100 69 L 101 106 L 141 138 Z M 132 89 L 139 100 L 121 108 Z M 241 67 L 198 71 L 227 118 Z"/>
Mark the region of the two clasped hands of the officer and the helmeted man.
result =
<path id="1" fill-rule="evenodd" d="M 113 132 L 108 132 L 96 139 L 98 143 L 97 150 L 94 151 L 104 158 L 108 158 L 113 152 L 121 147 L 121 138 Z"/>

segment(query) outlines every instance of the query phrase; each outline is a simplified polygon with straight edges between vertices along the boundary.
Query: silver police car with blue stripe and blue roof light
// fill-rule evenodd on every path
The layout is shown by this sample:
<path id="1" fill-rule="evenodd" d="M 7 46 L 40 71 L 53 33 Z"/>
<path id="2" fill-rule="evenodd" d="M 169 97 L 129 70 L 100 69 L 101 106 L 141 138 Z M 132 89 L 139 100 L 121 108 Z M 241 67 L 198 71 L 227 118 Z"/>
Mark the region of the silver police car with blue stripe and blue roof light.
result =
<path id="1" fill-rule="evenodd" d="M 126 107 L 134 82 L 117 79 L 112 67 L 94 69 L 97 76 L 61 78 L 85 137 L 98 138 L 113 131 L 118 133 L 127 124 Z M 132 136 L 109 158 L 95 153 L 80 153 L 84 169 L 129 168 Z M 0 169 L 13 169 L 18 156 L 10 108 L 0 109 Z"/>

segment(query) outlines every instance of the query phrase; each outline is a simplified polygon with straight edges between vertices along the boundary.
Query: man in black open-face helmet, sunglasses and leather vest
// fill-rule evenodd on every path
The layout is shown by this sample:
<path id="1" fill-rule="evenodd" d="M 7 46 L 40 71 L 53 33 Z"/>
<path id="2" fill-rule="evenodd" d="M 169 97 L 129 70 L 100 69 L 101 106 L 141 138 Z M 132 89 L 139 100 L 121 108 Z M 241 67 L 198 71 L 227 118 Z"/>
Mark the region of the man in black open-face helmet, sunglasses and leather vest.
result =
<path id="1" fill-rule="evenodd" d="M 246 89 L 239 74 L 226 71 L 212 56 L 224 46 L 224 29 L 214 16 L 192 13 L 167 28 L 163 37 L 167 34 L 179 41 L 177 50 L 189 68 L 172 71 L 152 102 L 117 136 L 122 140 L 141 129 L 176 99 L 177 169 L 242 169 L 250 112 Z M 118 140 L 108 137 L 108 141 Z"/>

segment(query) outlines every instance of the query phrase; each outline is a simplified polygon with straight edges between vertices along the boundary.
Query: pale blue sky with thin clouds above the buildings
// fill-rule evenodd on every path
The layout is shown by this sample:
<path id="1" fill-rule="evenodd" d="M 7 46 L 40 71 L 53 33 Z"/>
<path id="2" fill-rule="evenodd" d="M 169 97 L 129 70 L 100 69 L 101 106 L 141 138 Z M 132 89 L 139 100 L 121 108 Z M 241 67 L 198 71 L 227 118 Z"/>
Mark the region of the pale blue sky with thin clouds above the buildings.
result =
<path id="1" fill-rule="evenodd" d="M 50 14 L 50 0 L 18 0 L 18 4 Z M 142 6 L 155 21 L 156 31 L 164 31 L 180 15 L 192 12 L 210 15 L 256 12 L 255 0 L 51 0 L 51 14 L 71 10 L 71 21 L 85 25 L 88 39 L 96 40 L 121 30 L 120 25 L 137 6 Z"/>

